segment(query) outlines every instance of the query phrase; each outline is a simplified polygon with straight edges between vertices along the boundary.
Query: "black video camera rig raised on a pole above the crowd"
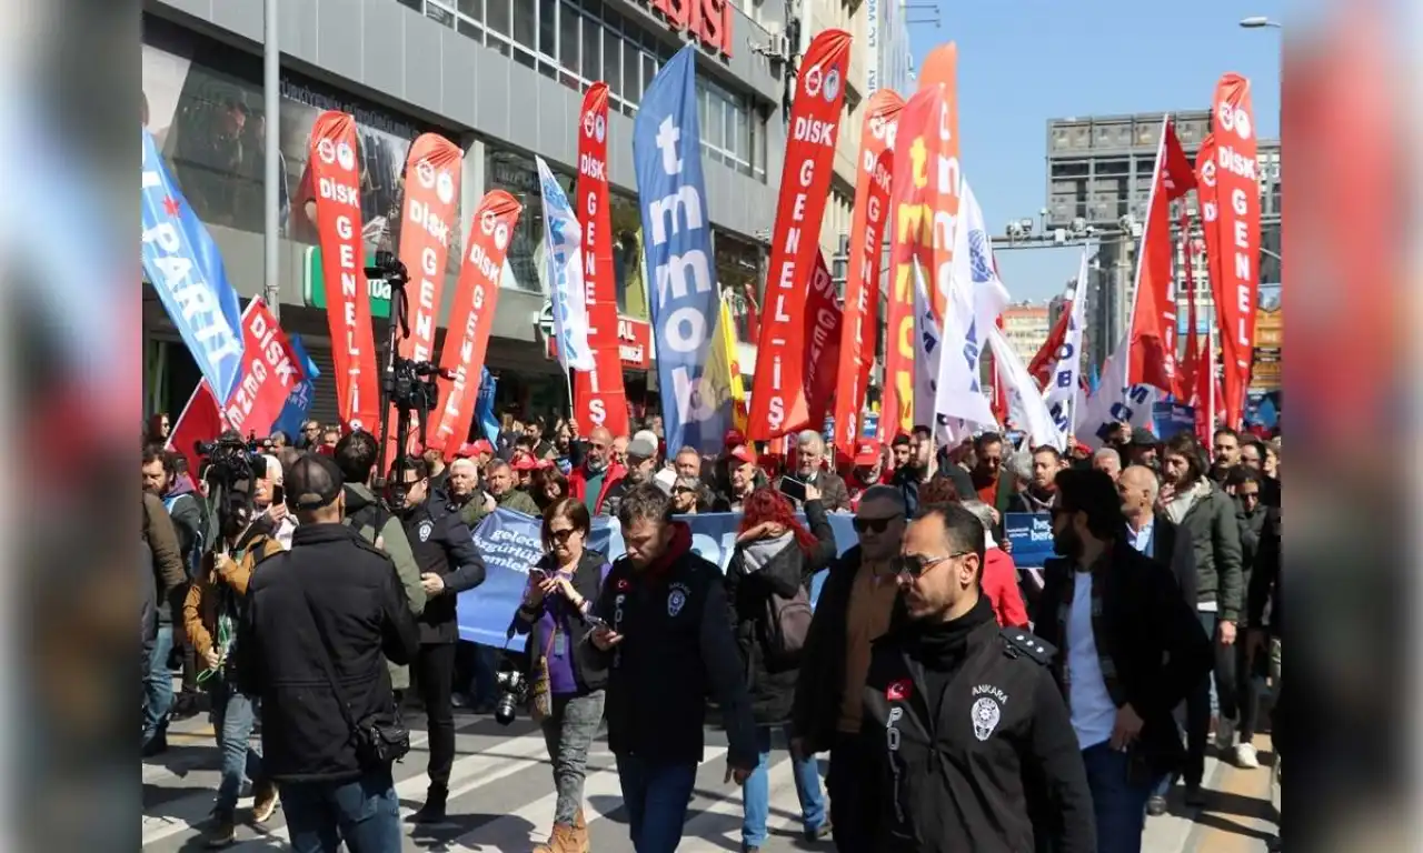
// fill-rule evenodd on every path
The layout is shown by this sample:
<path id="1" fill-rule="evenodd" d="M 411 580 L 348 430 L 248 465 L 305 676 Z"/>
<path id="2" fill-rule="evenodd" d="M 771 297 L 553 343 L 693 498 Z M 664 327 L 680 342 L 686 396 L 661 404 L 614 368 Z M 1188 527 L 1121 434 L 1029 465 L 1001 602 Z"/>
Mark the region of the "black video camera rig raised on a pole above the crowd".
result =
<path id="1" fill-rule="evenodd" d="M 408 300 L 406 284 L 410 283 L 410 272 L 393 252 L 376 252 L 376 263 L 366 267 L 369 279 L 384 279 L 390 284 L 390 338 L 387 347 L 390 361 L 386 364 L 386 375 L 381 380 L 380 407 L 380 459 L 376 466 L 376 489 L 390 495 L 393 506 L 401 506 L 406 498 L 404 471 L 396 471 L 394 482 L 386 483 L 386 436 L 390 432 L 390 409 L 397 412 L 396 422 L 396 465 L 400 468 L 406 458 L 406 446 L 410 438 L 410 412 L 416 414 L 420 425 L 420 435 L 425 434 L 425 424 L 430 411 L 440 404 L 440 390 L 435 377 L 453 380 L 454 374 L 441 371 L 431 361 L 416 361 L 400 355 L 400 341 L 410 337 Z"/>

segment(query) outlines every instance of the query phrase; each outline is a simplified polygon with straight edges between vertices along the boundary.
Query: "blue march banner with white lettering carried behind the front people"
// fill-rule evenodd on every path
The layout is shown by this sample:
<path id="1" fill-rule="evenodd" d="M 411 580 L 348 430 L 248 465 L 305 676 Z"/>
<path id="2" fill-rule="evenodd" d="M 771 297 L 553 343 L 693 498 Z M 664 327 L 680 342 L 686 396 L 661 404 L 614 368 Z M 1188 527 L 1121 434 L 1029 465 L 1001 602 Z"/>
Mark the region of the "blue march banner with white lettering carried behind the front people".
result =
<path id="1" fill-rule="evenodd" d="M 840 553 L 859 540 L 851 519 L 852 516 L 840 513 L 830 516 Z M 682 516 L 680 520 L 692 526 L 692 550 L 726 572 L 731 552 L 736 550 L 736 532 L 741 523 L 741 513 Z M 474 532 L 474 543 L 484 554 L 488 574 L 477 589 L 460 593 L 460 638 L 502 647 L 514 611 L 524 599 L 529 566 L 544 556 L 539 519 L 508 509 L 495 510 Z M 618 522 L 606 516 L 595 517 L 588 547 L 608 554 L 610 560 L 620 557 L 623 542 Z M 824 581 L 824 572 L 811 581 L 811 603 L 820 597 Z M 509 648 L 522 651 L 524 637 L 515 635 Z"/>

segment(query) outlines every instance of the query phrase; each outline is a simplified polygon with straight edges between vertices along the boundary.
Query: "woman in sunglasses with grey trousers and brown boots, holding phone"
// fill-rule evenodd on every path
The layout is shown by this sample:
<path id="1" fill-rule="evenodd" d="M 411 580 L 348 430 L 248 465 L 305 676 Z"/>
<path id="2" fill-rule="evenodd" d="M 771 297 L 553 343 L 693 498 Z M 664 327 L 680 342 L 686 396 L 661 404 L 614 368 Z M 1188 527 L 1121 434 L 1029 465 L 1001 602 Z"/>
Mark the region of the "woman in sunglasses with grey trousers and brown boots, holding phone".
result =
<path id="1" fill-rule="evenodd" d="M 528 634 L 534 715 L 554 762 L 554 832 L 534 853 L 586 853 L 583 778 L 588 749 L 603 718 L 608 675 L 586 665 L 589 608 L 612 567 L 588 547 L 592 522 L 582 500 L 564 498 L 544 510 L 544 557 L 529 569 L 514 630 Z M 546 714 L 544 712 L 546 711 Z"/>

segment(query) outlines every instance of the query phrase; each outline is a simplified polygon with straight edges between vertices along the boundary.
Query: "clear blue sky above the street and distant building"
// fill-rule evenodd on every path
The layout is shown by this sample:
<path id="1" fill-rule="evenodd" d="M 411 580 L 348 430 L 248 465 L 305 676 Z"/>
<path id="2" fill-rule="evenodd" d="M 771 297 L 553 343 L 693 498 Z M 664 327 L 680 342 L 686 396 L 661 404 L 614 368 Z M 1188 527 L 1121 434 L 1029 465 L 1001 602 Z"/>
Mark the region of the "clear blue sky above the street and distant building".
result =
<path id="1" fill-rule="evenodd" d="M 1237 71 L 1252 82 L 1261 136 L 1279 134 L 1281 33 L 1238 21 L 1281 20 L 1284 0 L 932 1 L 942 24 L 909 26 L 915 63 L 936 44 L 959 45 L 963 175 L 995 232 L 1037 219 L 1047 200 L 1050 118 L 1204 109 L 1217 78 Z M 1077 273 L 1077 253 L 1000 252 L 998 263 L 1015 300 L 1040 301 Z"/>

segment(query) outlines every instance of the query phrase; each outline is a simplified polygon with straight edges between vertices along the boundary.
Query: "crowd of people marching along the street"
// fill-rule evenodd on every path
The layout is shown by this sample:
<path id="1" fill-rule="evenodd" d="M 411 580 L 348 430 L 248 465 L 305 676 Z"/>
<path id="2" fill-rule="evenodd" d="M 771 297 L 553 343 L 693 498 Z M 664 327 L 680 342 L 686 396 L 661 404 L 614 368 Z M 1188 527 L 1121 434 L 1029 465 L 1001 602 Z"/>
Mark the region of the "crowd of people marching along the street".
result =
<path id="1" fill-rule="evenodd" d="M 1138 850 L 1178 782 L 1204 803 L 1212 748 L 1261 766 L 1266 699 L 1282 746 L 1278 438 L 1221 429 L 1205 448 L 1123 426 L 1063 454 L 995 432 L 936 446 L 918 428 L 837 452 L 807 431 L 777 454 L 731 431 L 704 456 L 666 446 L 656 417 L 626 436 L 505 418 L 380 471 L 376 436 L 313 421 L 246 471 L 192 472 L 155 425 L 144 755 L 166 749 L 171 718 L 212 715 L 212 846 L 236 839 L 249 786 L 252 819 L 280 805 L 299 852 L 400 850 L 390 766 L 417 705 L 430 786 L 413 820 L 447 819 L 454 708 L 495 712 L 505 678 L 455 618 L 485 577 L 471 530 L 499 508 L 541 519 L 509 621 L 528 651 L 508 658 L 552 765 L 541 853 L 589 850 L 582 786 L 605 725 L 633 849 L 675 850 L 712 709 L 747 852 L 767 842 L 777 748 L 808 842 L 936 853 Z M 680 520 L 707 512 L 740 513 L 724 567 Z M 1020 512 L 1050 517 L 1042 566 L 1013 562 Z M 831 513 L 852 513 L 852 547 Z M 618 519 L 618 559 L 589 544 L 599 515 Z"/>

